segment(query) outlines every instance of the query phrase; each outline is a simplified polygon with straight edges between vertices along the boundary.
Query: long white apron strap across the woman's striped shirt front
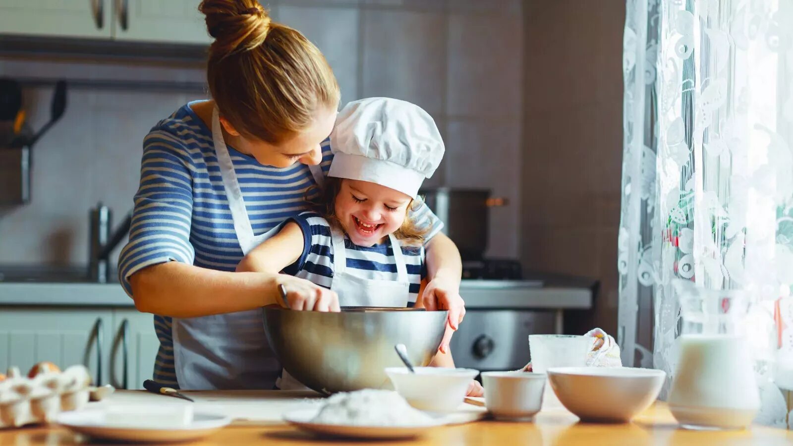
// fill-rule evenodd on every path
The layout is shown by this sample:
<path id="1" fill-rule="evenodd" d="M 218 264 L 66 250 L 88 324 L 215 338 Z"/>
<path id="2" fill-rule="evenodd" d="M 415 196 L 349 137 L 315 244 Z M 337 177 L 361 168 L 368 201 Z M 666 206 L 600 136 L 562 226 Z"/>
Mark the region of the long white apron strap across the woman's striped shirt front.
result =
<path id="1" fill-rule="evenodd" d="M 234 232 L 237 234 L 239 247 L 243 253 L 255 247 L 253 227 L 251 220 L 248 219 L 245 202 L 243 201 L 243 191 L 239 188 L 237 175 L 234 172 L 232 156 L 228 154 L 228 148 L 223 140 L 223 131 L 220 127 L 220 113 L 215 107 L 212 110 L 212 139 L 215 146 L 215 155 L 220 167 L 220 177 L 223 179 L 223 188 L 226 190 L 228 209 L 232 211 L 232 221 L 234 221 Z"/>

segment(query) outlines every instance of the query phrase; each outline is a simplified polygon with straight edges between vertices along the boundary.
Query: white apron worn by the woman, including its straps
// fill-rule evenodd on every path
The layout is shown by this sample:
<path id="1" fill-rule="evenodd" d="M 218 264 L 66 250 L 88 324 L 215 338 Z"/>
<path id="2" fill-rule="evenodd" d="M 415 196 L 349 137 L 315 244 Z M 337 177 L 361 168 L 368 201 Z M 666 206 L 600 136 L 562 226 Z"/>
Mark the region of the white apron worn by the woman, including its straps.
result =
<path id="1" fill-rule="evenodd" d="M 223 140 L 218 111 L 212 114 L 212 135 L 220 176 L 232 211 L 234 230 L 243 255 L 278 233 L 281 226 L 255 236 L 248 219 L 232 157 Z M 320 166 L 308 166 L 322 186 Z M 172 324 L 174 367 L 179 387 L 205 389 L 271 389 L 281 371 L 267 343 L 262 310 L 177 319 Z"/>

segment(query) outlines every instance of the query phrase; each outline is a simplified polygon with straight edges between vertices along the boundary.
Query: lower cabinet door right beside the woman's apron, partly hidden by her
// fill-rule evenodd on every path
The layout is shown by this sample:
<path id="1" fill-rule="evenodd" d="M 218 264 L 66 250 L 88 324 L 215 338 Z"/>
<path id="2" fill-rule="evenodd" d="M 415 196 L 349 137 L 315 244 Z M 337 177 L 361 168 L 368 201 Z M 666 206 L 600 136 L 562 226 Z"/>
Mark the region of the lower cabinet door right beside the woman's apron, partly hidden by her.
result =
<path id="1" fill-rule="evenodd" d="M 134 308 L 113 310 L 110 383 L 118 389 L 143 389 L 144 380 L 151 379 L 159 348 L 153 319 Z"/>

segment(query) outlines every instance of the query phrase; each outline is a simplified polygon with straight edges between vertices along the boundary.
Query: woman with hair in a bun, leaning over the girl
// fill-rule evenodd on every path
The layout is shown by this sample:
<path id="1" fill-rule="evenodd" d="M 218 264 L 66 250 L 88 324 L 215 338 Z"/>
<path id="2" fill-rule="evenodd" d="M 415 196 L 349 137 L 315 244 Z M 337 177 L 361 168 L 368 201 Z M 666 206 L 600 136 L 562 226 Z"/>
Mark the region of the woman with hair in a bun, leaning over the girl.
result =
<path id="1" fill-rule="evenodd" d="M 269 389 L 280 366 L 258 309 L 272 302 L 274 284 L 301 302 L 298 310 L 329 310 L 338 298 L 305 279 L 234 271 L 323 183 L 339 87 L 319 50 L 272 23 L 255 0 L 205 0 L 199 9 L 215 38 L 213 100 L 182 106 L 146 136 L 119 275 L 136 308 L 155 313 L 156 381 Z M 459 253 L 426 206 L 413 217 L 429 228 L 423 301 L 450 310 L 457 329 L 465 314 Z"/>

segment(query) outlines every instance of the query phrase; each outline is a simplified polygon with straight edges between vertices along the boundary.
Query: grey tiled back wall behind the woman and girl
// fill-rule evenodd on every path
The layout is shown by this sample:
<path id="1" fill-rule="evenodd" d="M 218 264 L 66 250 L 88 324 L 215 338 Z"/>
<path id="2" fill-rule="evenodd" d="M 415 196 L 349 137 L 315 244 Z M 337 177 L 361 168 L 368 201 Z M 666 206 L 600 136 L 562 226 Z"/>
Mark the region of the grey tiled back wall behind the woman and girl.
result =
<path id="1" fill-rule="evenodd" d="M 301 30 L 331 63 L 343 102 L 391 96 L 435 117 L 446 158 L 429 185 L 488 187 L 509 199 L 492 211 L 489 255 L 517 257 L 523 144 L 523 18 L 519 0 L 281 0 L 273 17 Z M 0 58 L 0 76 L 186 81 L 200 64 Z M 34 128 L 51 88 L 25 90 Z M 33 148 L 32 201 L 0 210 L 0 263 L 87 262 L 88 214 L 102 201 L 117 220 L 132 206 L 140 143 L 198 92 L 70 90 L 62 121 Z M 118 251 L 118 250 L 117 250 Z M 113 254 L 117 256 L 117 252 Z"/>

